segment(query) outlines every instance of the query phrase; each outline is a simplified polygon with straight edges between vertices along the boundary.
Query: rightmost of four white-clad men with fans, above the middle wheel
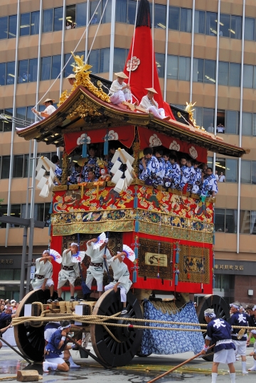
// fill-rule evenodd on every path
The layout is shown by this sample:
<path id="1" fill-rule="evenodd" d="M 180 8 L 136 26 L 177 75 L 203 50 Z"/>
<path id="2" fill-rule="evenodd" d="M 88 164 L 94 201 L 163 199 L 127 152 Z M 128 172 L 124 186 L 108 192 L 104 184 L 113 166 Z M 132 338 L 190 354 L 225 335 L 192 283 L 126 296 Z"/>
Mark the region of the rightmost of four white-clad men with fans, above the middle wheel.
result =
<path id="1" fill-rule="evenodd" d="M 105 291 L 114 288 L 114 292 L 117 293 L 117 288 L 120 289 L 121 302 L 123 309 L 121 314 L 126 314 L 127 293 L 132 286 L 132 281 L 129 279 L 129 270 L 127 264 L 124 264 L 125 252 L 117 253 L 115 257 L 110 259 L 110 266 L 114 273 L 114 281 L 105 286 Z"/>

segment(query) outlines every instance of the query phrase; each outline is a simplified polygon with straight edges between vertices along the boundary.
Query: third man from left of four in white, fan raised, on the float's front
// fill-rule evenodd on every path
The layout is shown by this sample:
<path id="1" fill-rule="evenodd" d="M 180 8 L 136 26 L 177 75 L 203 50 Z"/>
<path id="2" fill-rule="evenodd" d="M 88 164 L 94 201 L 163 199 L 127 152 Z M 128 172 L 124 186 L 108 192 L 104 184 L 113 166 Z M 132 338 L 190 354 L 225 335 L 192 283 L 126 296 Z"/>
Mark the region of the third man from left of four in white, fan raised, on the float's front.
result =
<path id="1" fill-rule="evenodd" d="M 106 244 L 108 239 L 105 239 L 105 242 L 98 248 L 93 249 L 93 244 L 97 242 L 97 238 L 92 238 L 87 242 L 87 250 L 85 254 L 87 254 L 91 261 L 90 266 L 87 269 L 86 281 L 85 284 L 88 288 L 92 287 L 93 279 L 96 279 L 97 282 L 97 291 L 99 291 L 99 296 L 102 295 L 103 291 L 103 274 L 105 268 L 104 264 L 104 256 L 106 256 L 107 260 L 111 259 L 110 250 L 106 248 Z M 87 294 L 87 298 L 89 298 L 90 294 Z"/>

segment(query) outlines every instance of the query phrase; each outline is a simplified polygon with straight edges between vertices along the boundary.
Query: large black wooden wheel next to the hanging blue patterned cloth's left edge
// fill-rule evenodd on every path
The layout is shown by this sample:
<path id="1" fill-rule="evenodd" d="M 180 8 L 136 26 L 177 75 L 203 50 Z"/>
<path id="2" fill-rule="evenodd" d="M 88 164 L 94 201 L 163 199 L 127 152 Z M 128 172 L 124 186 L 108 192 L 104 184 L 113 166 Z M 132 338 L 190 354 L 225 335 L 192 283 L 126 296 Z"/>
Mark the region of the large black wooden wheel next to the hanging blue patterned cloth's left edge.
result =
<path id="1" fill-rule="evenodd" d="M 119 313 L 119 311 L 122 311 L 119 290 L 117 293 L 114 293 L 114 290 L 109 290 L 97 301 L 93 314 L 110 316 Z M 127 315 L 118 321 L 112 320 L 111 323 L 128 325 L 129 318 L 142 319 L 139 301 L 131 291 L 127 293 Z M 111 367 L 127 365 L 139 350 L 142 341 L 142 330 L 129 331 L 128 326 L 127 328 L 109 326 L 109 329 L 120 342 L 114 340 L 102 325 L 91 325 L 90 333 L 93 350 L 95 350 L 97 357 L 104 360 Z"/>

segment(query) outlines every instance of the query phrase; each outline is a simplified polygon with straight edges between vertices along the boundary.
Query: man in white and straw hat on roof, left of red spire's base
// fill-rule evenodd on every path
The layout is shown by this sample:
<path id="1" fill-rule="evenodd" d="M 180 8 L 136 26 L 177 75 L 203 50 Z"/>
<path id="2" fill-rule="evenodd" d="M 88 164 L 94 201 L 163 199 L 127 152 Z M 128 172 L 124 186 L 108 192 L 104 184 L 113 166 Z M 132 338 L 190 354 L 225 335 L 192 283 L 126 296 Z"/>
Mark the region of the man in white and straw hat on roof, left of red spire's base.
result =
<path id="1" fill-rule="evenodd" d="M 117 80 L 112 82 L 110 87 L 110 101 L 112 104 L 122 104 L 124 101 L 132 102 L 131 88 L 129 84 L 126 84 L 124 80 L 129 77 L 124 72 L 114 73 L 117 76 Z"/>

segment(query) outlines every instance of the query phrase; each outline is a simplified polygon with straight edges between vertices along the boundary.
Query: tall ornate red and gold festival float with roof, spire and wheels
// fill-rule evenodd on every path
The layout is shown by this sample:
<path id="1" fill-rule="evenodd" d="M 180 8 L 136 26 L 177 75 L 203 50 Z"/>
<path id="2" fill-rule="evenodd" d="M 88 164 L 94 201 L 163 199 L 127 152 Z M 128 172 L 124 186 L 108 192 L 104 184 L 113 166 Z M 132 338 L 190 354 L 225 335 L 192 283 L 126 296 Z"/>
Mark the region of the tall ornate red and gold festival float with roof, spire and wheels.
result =
<path id="1" fill-rule="evenodd" d="M 122 250 L 123 244 L 131 247 L 134 262 L 129 266 L 132 288 L 127 294 L 127 318 L 119 324 L 129 324 L 129 319 L 141 319 L 144 328 L 132 326 L 108 328 L 107 325 L 91 324 L 92 346 L 97 357 L 108 366 L 122 366 L 134 355 L 150 353 L 174 354 L 202 348 L 201 333 L 164 331 L 150 329 L 143 320 L 173 321 L 166 328 L 184 328 L 178 323 L 203 323 L 203 311 L 208 307 L 226 318 L 229 309 L 222 298 L 213 296 L 214 284 L 214 203 L 215 198 L 202 201 L 198 195 L 176 189 L 145 185 L 137 178 L 140 152 L 146 147 L 159 147 L 185 153 L 200 163 L 207 163 L 207 152 L 225 156 L 242 157 L 246 151 L 226 144 L 222 138 L 210 134 L 193 119 L 193 104 L 186 110 L 178 109 L 163 101 L 154 58 L 151 38 L 149 2 L 141 0 L 137 13 L 134 38 L 124 66 L 129 77 L 132 95 L 138 100 L 146 94 L 146 87 L 154 87 L 159 107 L 163 107 L 169 120 L 159 119 L 146 113 L 136 104 L 124 102 L 112 104 L 108 95 L 111 82 L 90 74 L 90 65 L 74 55 L 75 83 L 70 93 L 63 92 L 58 109 L 46 119 L 18 131 L 23 139 L 36 139 L 46 145 L 63 147 L 63 176 L 61 185 L 54 185 L 54 169 L 50 163 L 38 163 L 38 173 L 45 166 L 52 176 L 41 184 L 41 196 L 52 193 L 50 248 L 62 254 L 71 242 L 79 242 L 80 250 L 86 251 L 89 239 L 107 232 L 108 248 L 112 254 Z M 82 165 L 86 163 L 88 144 L 97 144 L 108 153 L 110 143 L 116 142 L 112 180 L 102 179 L 95 183 L 68 185 L 68 169 L 73 153 L 80 153 Z M 121 163 L 126 165 L 123 172 Z M 38 177 L 40 179 L 40 177 Z M 85 277 L 90 258 L 82 261 Z M 53 279 L 57 286 L 60 264 L 53 262 Z M 110 270 L 111 274 L 111 270 Z M 81 279 L 76 280 L 78 296 Z M 105 275 L 107 284 L 107 275 Z M 68 287 L 67 287 L 68 288 Z M 157 299 L 156 295 L 166 296 Z M 197 308 L 193 294 L 205 294 Z M 31 291 L 23 298 L 17 314 L 24 315 L 26 304 L 33 303 L 39 315 L 41 306 L 49 298 L 48 291 Z M 192 301 L 191 301 L 192 299 Z M 78 303 L 76 303 L 78 304 Z M 119 294 L 107 291 L 97 302 L 84 302 L 87 314 L 111 316 L 121 311 Z M 48 305 L 50 306 L 50 305 Z M 75 305 L 74 305 L 75 307 Z M 43 306 L 45 309 L 46 306 Z M 42 308 L 42 310 L 43 310 Z M 46 313 L 48 320 L 60 315 Z M 70 313 L 70 305 L 66 305 Z M 37 314 L 36 314 L 37 312 Z M 85 313 L 85 311 L 83 311 Z M 70 314 L 69 314 L 70 315 Z M 83 314 L 85 315 L 85 314 Z M 41 318 L 38 319 L 40 322 Z M 35 327 L 26 323 L 15 325 L 17 345 L 31 360 L 43 357 L 43 323 Z M 117 323 L 117 320 L 110 320 Z M 197 327 L 198 328 L 198 327 Z M 207 355 L 206 355 L 207 358 Z M 210 358 L 210 357 L 209 357 Z"/>

